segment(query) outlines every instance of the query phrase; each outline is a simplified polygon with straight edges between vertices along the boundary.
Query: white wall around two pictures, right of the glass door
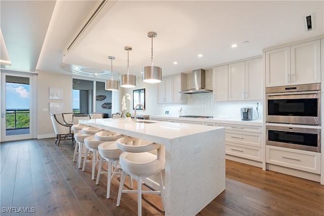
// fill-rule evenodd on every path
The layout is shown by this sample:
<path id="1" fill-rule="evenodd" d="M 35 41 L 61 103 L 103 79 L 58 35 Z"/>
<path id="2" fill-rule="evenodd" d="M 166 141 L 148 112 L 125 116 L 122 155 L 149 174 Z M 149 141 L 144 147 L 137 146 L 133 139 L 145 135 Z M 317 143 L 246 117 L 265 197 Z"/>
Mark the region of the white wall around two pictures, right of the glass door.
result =
<path id="1" fill-rule="evenodd" d="M 63 100 L 50 100 L 50 87 L 62 88 Z M 62 102 L 63 112 L 72 112 L 71 75 L 38 71 L 38 139 L 56 136 L 50 117 L 50 102 Z"/>

